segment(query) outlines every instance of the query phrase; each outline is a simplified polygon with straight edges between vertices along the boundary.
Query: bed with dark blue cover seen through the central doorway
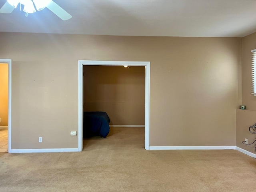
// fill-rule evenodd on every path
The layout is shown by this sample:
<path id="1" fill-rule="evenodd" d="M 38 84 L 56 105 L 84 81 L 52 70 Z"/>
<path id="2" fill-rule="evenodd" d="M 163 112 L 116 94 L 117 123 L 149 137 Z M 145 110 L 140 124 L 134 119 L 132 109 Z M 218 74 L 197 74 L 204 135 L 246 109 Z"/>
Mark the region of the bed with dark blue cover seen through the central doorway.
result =
<path id="1" fill-rule="evenodd" d="M 110 119 L 106 112 L 84 112 L 84 138 L 101 136 L 109 133 Z"/>

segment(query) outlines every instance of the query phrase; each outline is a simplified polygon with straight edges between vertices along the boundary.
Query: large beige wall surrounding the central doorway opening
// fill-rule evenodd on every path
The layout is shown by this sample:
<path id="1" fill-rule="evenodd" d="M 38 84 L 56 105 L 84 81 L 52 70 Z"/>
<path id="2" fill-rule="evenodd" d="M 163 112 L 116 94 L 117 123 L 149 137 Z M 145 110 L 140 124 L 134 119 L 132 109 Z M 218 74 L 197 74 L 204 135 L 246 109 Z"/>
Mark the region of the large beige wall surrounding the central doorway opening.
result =
<path id="1" fill-rule="evenodd" d="M 3 32 L 0 42 L 13 60 L 13 149 L 77 147 L 78 60 L 151 62 L 150 146 L 235 145 L 241 38 Z"/>

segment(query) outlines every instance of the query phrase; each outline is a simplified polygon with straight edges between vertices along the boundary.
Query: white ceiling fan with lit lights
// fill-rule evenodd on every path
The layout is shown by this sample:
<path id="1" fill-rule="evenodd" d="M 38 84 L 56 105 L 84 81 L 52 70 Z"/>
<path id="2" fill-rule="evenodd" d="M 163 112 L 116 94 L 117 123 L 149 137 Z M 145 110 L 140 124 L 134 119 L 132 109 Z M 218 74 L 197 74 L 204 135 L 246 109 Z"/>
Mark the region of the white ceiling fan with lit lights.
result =
<path id="1" fill-rule="evenodd" d="M 20 4 L 20 10 L 22 5 L 24 6 L 23 11 L 26 12 L 25 16 L 29 13 L 34 13 L 36 10 L 40 11 L 44 8 L 50 9 L 62 20 L 68 20 L 72 16 L 62 9 L 53 0 L 7 0 L 7 2 L 0 8 L 0 13 L 11 13 Z"/>

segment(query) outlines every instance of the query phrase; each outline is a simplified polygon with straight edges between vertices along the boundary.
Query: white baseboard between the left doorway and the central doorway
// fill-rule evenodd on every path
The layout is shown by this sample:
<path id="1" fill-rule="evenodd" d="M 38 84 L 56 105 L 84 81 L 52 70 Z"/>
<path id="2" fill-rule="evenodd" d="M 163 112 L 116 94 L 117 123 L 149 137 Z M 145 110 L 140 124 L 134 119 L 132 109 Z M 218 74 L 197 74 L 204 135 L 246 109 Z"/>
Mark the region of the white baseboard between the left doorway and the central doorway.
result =
<path id="1" fill-rule="evenodd" d="M 11 153 L 51 153 L 51 152 L 78 152 L 78 148 L 58 149 L 12 149 Z"/>

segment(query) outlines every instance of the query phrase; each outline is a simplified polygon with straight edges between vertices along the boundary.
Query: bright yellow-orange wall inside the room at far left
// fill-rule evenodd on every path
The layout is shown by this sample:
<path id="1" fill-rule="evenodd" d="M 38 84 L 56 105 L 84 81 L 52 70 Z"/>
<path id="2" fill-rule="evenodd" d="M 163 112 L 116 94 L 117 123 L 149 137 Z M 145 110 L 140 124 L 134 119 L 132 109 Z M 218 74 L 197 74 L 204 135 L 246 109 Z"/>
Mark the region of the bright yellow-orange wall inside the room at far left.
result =
<path id="1" fill-rule="evenodd" d="M 8 126 L 8 64 L 0 63 L 0 126 Z"/>

